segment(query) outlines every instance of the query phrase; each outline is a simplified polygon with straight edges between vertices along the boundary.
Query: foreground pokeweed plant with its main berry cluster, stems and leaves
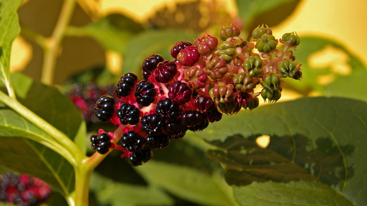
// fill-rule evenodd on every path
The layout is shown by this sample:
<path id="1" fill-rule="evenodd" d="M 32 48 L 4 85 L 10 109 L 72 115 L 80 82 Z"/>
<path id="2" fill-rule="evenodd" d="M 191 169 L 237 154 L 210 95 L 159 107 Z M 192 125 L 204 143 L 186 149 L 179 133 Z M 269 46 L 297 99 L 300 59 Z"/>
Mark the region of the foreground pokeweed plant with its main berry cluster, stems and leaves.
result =
<path id="1" fill-rule="evenodd" d="M 366 203 L 366 103 L 304 98 L 257 108 L 260 96 L 268 102 L 281 98 L 284 78 L 302 78 L 301 64 L 292 51 L 300 43 L 297 33 L 278 40 L 262 25 L 253 30 L 250 43 L 230 23 L 221 27 L 220 40 L 204 34 L 192 43 L 174 44 L 171 60 L 159 54 L 141 59 L 142 79 L 140 74 L 126 73 L 117 81 L 115 96 L 103 95 L 96 102 L 95 117 L 116 125 L 116 130 L 100 129 L 88 137 L 96 150 L 88 157 L 86 125 L 72 103 L 53 87 L 21 74 L 10 75 L 19 4 L 2 1 L 0 6 L 0 77 L 6 88 L 0 91 L 0 163 L 43 179 L 69 205 L 88 205 L 92 172 L 113 150 L 121 151 L 121 158 L 137 166 L 150 184 L 199 204 Z M 70 5 L 73 2 L 66 0 L 68 9 L 62 15 L 70 13 Z M 61 19 L 55 29 L 61 33 L 52 36 L 50 48 L 58 47 L 62 39 L 68 18 Z M 56 54 L 51 50 L 45 54 L 45 68 L 54 64 Z M 265 148 L 256 144 L 260 135 L 270 136 Z M 214 184 L 222 185 L 215 190 L 220 195 L 213 197 L 212 188 L 200 184 L 207 181 L 201 173 L 150 161 L 152 150 L 182 137 L 225 169 L 225 185 Z M 195 142 L 198 138 L 206 143 Z M 182 181 L 175 174 L 201 180 Z M 221 193 L 228 185 L 233 196 Z"/>

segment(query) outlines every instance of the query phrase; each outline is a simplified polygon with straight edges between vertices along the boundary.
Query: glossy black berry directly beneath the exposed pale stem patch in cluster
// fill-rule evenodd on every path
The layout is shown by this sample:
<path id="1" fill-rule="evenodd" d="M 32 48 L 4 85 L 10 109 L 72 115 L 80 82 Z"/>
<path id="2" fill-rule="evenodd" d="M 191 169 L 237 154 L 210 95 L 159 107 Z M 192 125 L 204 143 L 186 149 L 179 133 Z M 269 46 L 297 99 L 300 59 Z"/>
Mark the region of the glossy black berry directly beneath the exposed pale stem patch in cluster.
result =
<path id="1" fill-rule="evenodd" d="M 165 121 L 158 114 L 144 115 L 141 120 L 141 128 L 148 134 L 159 134 L 162 132 Z"/>

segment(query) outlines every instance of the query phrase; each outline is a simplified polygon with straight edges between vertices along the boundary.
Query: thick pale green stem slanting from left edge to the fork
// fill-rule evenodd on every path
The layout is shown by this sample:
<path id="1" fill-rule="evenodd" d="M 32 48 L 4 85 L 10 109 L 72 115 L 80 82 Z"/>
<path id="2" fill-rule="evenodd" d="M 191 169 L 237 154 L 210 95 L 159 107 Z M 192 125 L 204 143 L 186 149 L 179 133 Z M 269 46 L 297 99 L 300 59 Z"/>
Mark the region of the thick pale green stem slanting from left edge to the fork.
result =
<path id="1" fill-rule="evenodd" d="M 72 164 L 74 167 L 79 165 L 80 162 L 85 158 L 83 152 L 81 152 L 80 148 L 72 140 L 70 140 L 65 134 L 60 132 L 54 126 L 50 125 L 47 121 L 34 114 L 27 107 L 23 106 L 23 104 L 15 99 L 10 98 L 2 91 L 0 91 L 0 100 L 23 118 L 32 122 L 38 128 L 50 135 L 56 141 L 55 143 L 57 143 L 57 146 L 55 147 L 60 147 L 58 150 L 64 150 L 64 152 L 59 151 L 59 154 L 68 160 L 68 162 L 70 162 L 70 164 Z M 51 141 L 48 141 L 48 143 L 55 144 Z"/>

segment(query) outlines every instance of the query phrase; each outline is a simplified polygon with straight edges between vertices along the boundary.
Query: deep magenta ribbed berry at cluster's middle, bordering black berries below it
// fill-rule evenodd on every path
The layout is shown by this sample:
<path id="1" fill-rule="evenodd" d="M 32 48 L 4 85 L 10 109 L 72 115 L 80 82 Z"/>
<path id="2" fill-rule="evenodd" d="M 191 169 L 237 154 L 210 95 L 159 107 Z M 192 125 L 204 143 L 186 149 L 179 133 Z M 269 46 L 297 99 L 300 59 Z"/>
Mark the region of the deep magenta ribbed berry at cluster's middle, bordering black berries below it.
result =
<path id="1" fill-rule="evenodd" d="M 192 90 L 185 82 L 175 81 L 168 87 L 168 97 L 175 104 L 185 104 L 191 99 Z"/>

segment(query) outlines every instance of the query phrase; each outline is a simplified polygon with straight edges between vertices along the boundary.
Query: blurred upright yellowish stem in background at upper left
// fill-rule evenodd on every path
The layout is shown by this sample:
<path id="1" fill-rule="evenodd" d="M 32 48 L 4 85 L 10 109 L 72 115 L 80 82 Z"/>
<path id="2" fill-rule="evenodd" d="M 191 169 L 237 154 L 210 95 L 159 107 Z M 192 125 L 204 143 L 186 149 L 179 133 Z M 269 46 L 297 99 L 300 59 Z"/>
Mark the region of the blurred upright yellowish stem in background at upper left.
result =
<path id="1" fill-rule="evenodd" d="M 44 48 L 44 61 L 41 74 L 41 82 L 44 84 L 52 85 L 54 81 L 56 59 L 59 54 L 61 41 L 65 36 L 66 26 L 70 22 L 74 8 L 75 0 L 64 0 L 54 32 L 52 32 Z"/>

